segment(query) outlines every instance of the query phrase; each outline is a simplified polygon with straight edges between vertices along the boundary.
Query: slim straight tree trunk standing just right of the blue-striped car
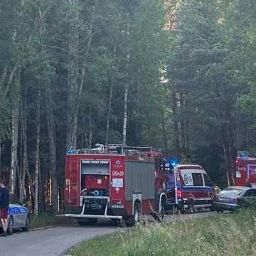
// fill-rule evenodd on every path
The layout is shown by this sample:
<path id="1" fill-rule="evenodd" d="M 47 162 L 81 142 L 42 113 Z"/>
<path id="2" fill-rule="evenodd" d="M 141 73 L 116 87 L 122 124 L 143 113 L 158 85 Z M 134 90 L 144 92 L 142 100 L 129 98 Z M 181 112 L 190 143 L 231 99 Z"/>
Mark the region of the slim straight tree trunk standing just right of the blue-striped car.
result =
<path id="1" fill-rule="evenodd" d="M 35 205 L 34 205 L 34 214 L 38 215 L 38 200 L 39 200 L 39 166 L 40 166 L 40 159 L 39 159 L 39 150 L 40 150 L 40 95 L 41 92 L 38 89 L 38 99 L 36 102 L 36 159 L 35 159 Z"/>

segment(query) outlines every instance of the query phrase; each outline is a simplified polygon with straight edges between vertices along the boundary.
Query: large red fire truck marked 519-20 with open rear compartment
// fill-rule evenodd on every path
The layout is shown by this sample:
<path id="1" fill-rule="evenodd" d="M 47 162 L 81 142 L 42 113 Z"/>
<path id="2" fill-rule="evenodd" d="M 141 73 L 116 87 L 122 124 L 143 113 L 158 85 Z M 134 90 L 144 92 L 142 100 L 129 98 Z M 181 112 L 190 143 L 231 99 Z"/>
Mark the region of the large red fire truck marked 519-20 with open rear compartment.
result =
<path id="1" fill-rule="evenodd" d="M 91 224 L 110 218 L 133 225 L 164 216 L 161 154 L 150 147 L 98 144 L 70 149 L 65 162 L 65 216 Z M 160 213 L 160 214 L 159 214 Z"/>

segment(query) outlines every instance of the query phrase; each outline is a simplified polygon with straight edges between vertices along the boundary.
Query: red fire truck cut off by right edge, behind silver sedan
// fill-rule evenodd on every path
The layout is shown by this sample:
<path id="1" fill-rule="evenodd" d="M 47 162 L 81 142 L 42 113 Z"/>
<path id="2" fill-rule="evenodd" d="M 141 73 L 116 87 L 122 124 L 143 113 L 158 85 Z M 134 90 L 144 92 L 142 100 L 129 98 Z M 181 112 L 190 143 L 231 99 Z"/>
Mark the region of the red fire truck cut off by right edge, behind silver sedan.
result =
<path id="1" fill-rule="evenodd" d="M 256 158 L 242 151 L 235 159 L 235 185 L 247 186 L 247 183 L 256 186 Z"/>

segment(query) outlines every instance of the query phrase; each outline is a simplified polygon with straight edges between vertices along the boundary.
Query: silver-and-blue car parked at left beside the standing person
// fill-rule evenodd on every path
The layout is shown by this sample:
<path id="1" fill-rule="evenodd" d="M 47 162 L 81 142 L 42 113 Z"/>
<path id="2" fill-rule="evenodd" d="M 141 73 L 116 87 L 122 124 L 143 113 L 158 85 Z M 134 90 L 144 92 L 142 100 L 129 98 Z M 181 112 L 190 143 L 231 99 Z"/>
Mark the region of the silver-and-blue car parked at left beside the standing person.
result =
<path id="1" fill-rule="evenodd" d="M 7 233 L 11 235 L 15 229 L 22 229 L 23 231 L 28 231 L 30 223 L 31 219 L 28 208 L 22 206 L 20 201 L 14 194 L 10 194 Z"/>

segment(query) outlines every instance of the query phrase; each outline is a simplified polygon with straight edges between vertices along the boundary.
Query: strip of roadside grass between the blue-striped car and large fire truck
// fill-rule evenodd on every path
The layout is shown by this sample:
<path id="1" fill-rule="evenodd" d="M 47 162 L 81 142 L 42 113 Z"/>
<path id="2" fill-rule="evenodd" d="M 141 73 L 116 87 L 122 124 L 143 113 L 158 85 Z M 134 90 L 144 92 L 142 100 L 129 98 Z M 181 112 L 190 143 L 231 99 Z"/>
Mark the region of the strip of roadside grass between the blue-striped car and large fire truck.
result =
<path id="1" fill-rule="evenodd" d="M 48 226 L 53 225 L 63 225 L 65 223 L 68 223 L 69 220 L 62 218 L 62 217 L 56 217 L 52 214 L 40 214 L 38 216 L 31 216 L 31 228 L 46 228 Z"/>

